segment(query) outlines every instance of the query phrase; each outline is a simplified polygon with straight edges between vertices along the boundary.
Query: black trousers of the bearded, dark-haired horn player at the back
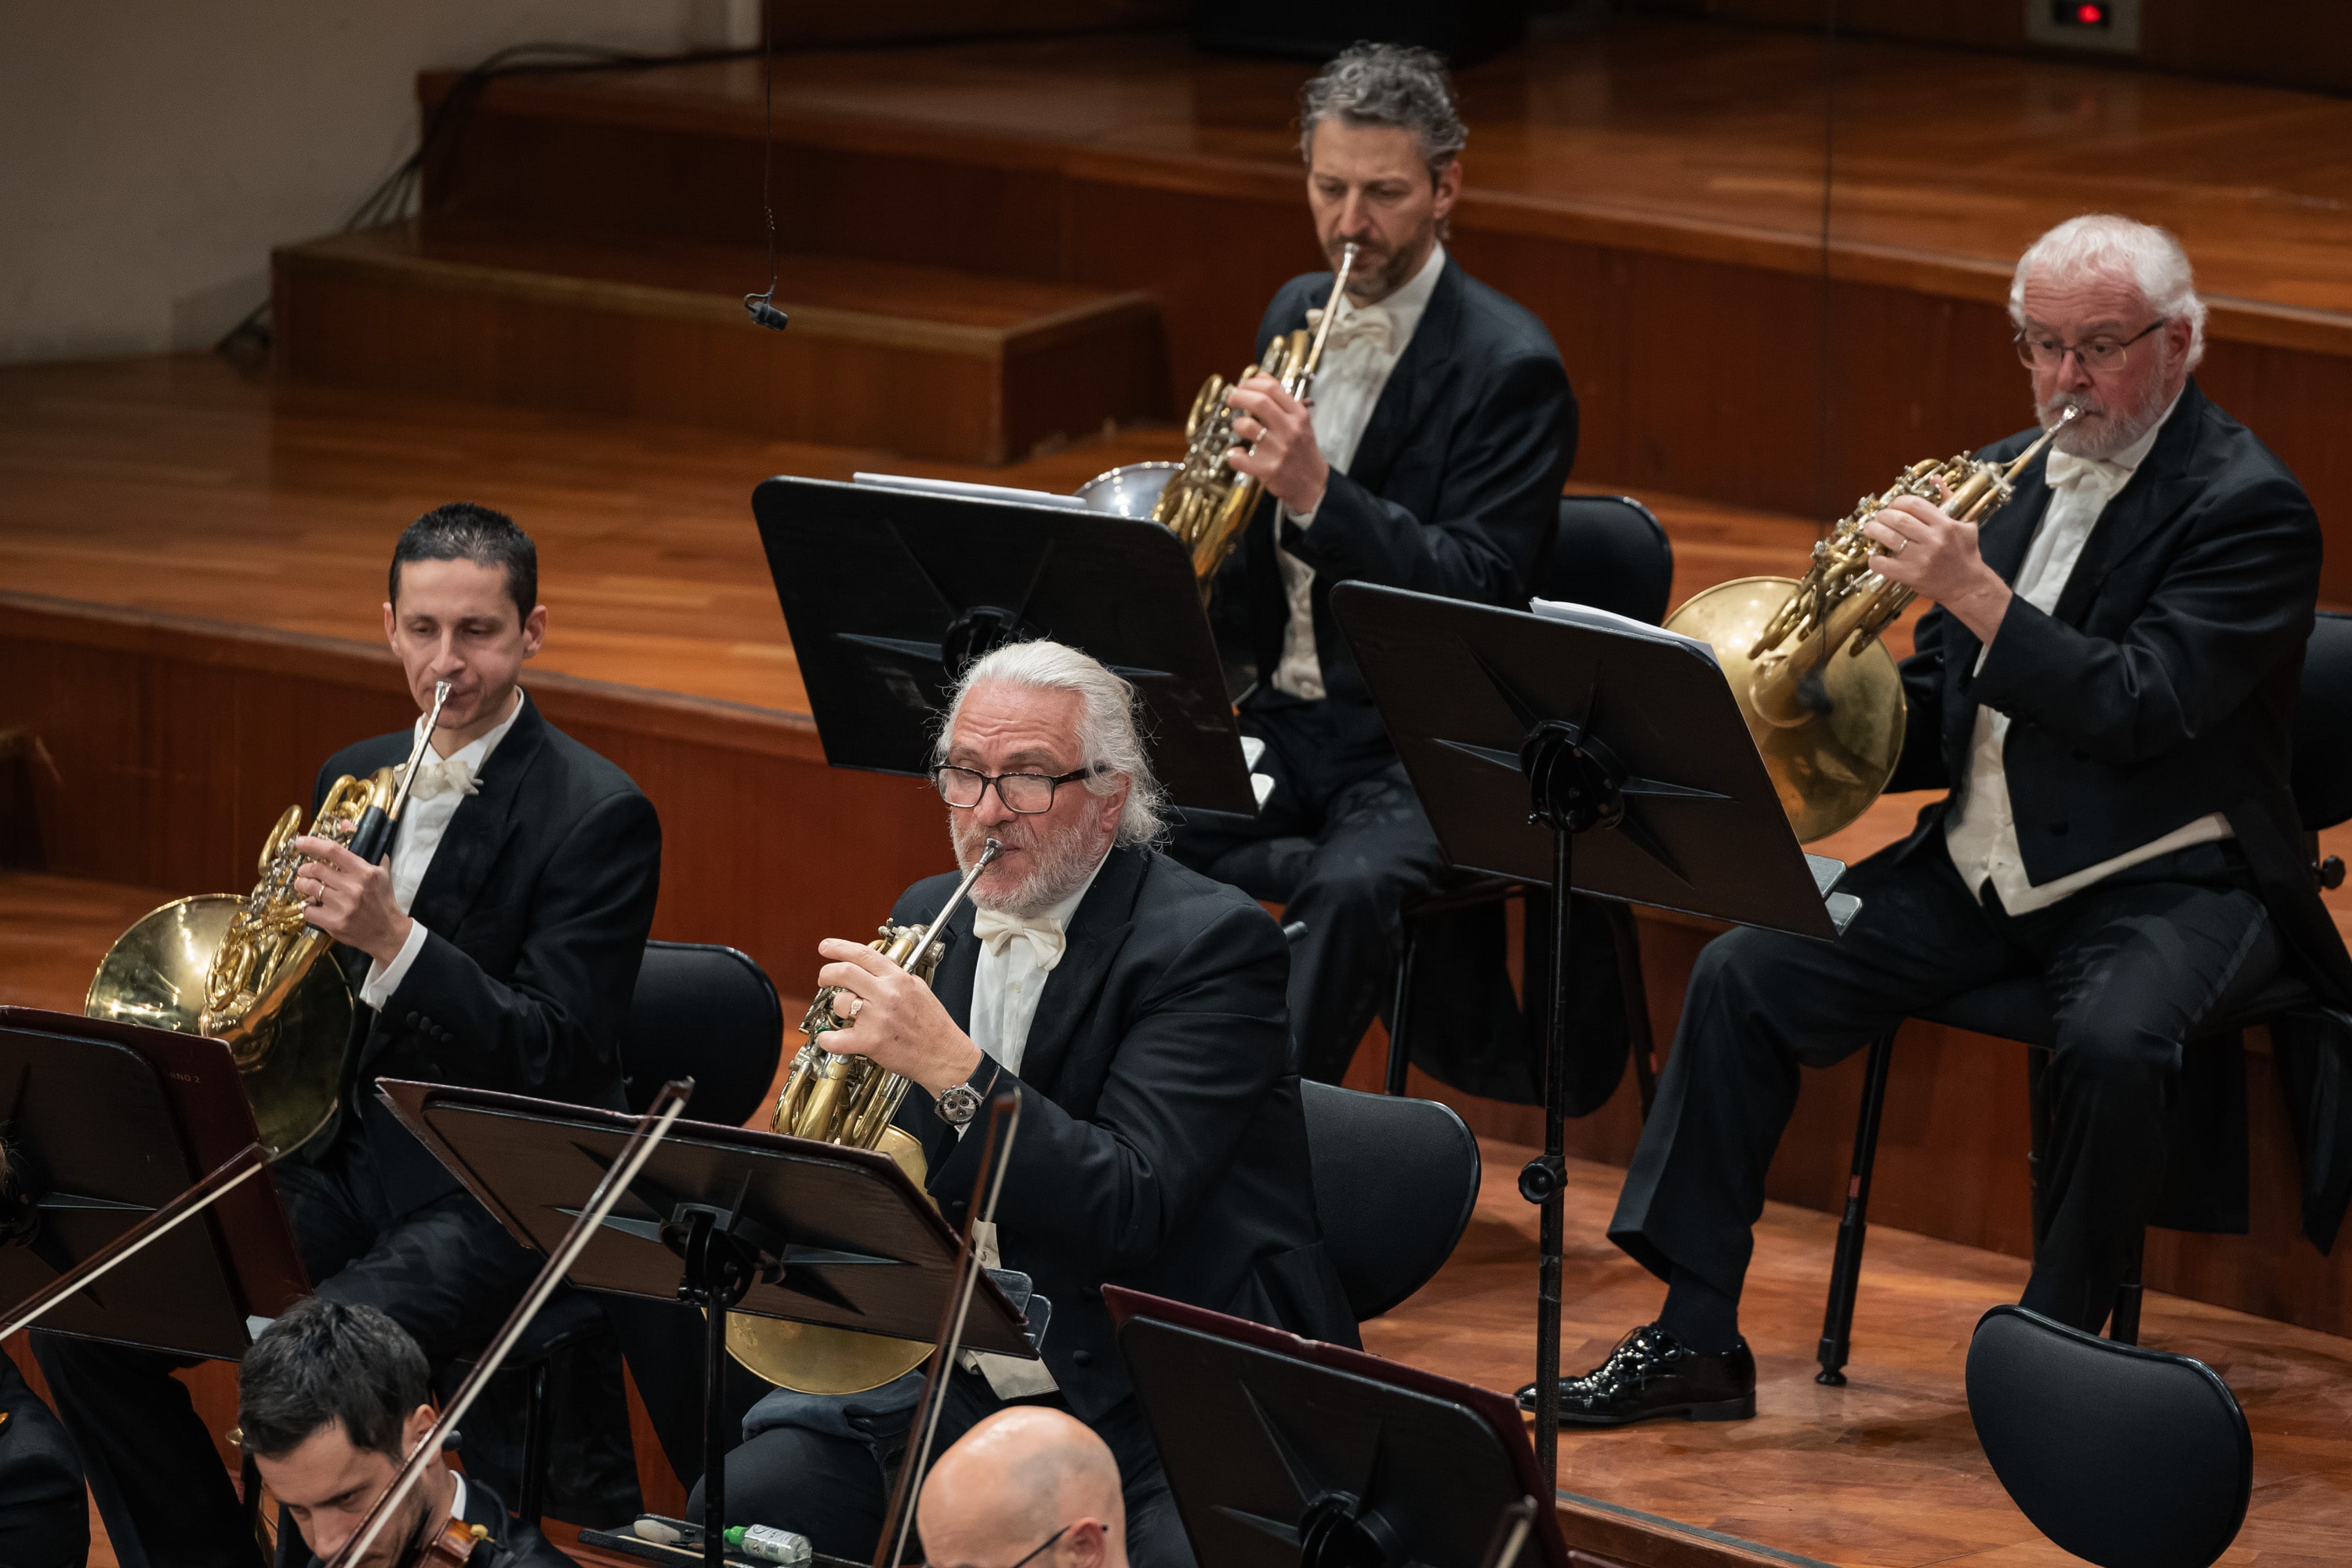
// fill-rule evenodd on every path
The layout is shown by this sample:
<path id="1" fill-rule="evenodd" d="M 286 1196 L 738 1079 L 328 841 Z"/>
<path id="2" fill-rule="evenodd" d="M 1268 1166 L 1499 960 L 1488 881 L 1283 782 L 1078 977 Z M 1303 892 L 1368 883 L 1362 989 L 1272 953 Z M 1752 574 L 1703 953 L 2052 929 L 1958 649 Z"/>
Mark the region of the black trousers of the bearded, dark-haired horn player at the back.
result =
<path id="1" fill-rule="evenodd" d="M 1444 879 L 1421 797 L 1388 743 L 1367 750 L 1359 724 L 1327 703 L 1261 691 L 1242 733 L 1265 741 L 1258 771 L 1275 792 L 1251 820 L 1197 818 L 1169 853 L 1303 919 L 1291 947 L 1291 1039 L 1298 1072 L 1336 1084 L 1397 983 L 1402 910 Z"/>

